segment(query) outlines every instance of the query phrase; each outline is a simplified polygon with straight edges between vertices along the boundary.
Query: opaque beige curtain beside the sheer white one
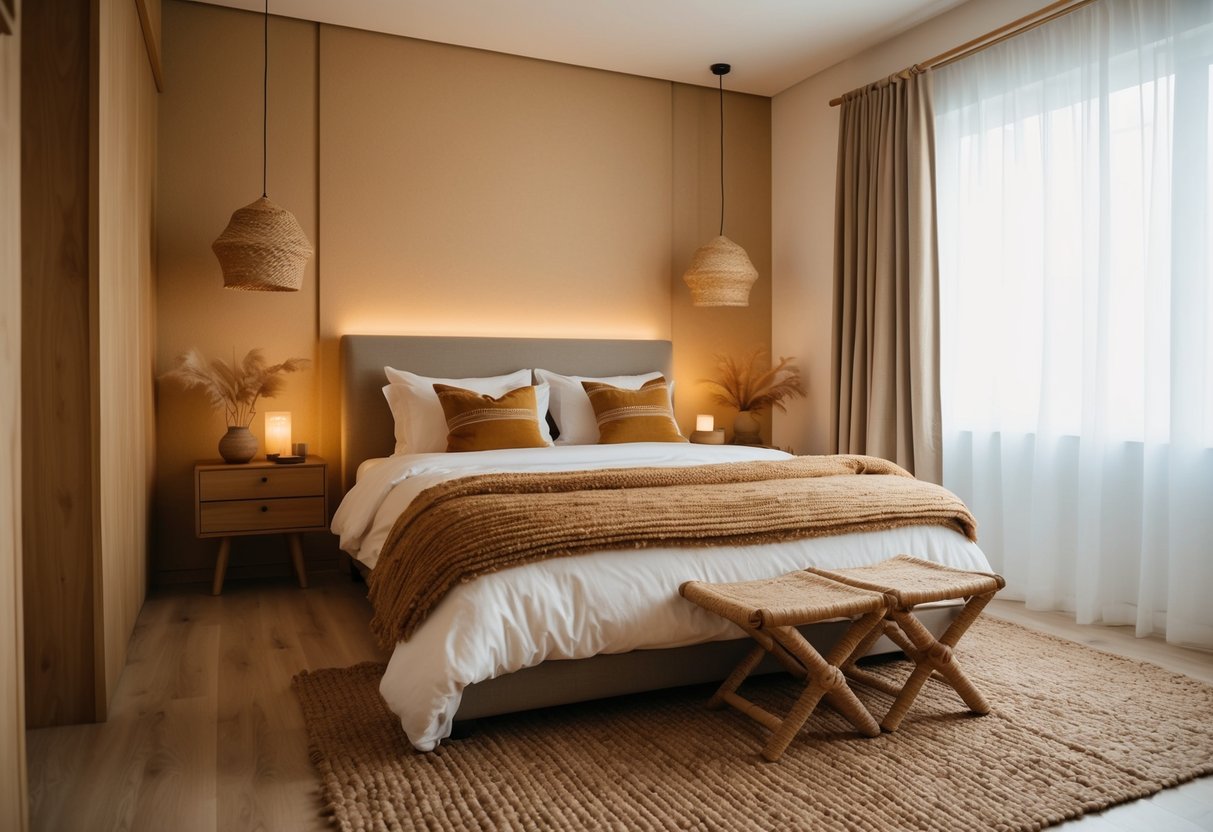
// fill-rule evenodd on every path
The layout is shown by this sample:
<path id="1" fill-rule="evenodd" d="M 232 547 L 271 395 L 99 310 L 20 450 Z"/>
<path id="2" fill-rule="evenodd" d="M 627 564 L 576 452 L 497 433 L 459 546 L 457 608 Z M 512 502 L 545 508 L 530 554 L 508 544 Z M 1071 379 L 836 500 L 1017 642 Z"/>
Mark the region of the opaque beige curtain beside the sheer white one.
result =
<path id="1" fill-rule="evenodd" d="M 943 479 L 930 73 L 849 93 L 838 130 L 832 424 L 839 454 Z"/>

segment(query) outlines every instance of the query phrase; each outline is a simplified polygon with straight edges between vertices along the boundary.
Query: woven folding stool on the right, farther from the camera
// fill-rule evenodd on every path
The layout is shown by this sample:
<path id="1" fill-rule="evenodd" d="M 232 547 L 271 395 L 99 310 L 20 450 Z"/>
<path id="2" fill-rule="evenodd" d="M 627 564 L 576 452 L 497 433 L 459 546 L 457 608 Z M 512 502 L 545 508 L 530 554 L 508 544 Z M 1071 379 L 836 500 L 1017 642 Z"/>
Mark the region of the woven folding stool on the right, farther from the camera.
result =
<path id="1" fill-rule="evenodd" d="M 889 599 L 884 627 L 869 633 L 850 661 L 842 665 L 848 678 L 895 697 L 881 720 L 881 728 L 887 731 L 898 730 L 932 671 L 936 671 L 961 695 L 973 713 L 990 713 L 990 703 L 964 676 L 952 649 L 995 593 L 1007 585 L 1001 575 L 967 572 L 906 554 L 871 566 L 836 570 L 813 568 L 809 571 L 853 587 L 883 592 Z M 918 604 L 962 598 L 968 598 L 968 603 L 939 639 L 913 615 L 913 608 Z M 855 660 L 867 653 L 882 632 L 915 662 L 913 672 L 900 686 L 855 666 Z"/>

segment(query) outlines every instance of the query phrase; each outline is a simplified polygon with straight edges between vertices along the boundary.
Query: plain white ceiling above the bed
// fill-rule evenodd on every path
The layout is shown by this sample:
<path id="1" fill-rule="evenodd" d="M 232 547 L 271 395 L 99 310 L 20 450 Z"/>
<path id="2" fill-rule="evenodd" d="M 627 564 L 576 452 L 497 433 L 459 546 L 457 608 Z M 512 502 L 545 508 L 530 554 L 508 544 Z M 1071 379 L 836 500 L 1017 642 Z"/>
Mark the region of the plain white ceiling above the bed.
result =
<path id="1" fill-rule="evenodd" d="M 263 11 L 264 0 L 200 0 Z M 774 96 L 964 0 L 272 0 L 273 15 Z"/>

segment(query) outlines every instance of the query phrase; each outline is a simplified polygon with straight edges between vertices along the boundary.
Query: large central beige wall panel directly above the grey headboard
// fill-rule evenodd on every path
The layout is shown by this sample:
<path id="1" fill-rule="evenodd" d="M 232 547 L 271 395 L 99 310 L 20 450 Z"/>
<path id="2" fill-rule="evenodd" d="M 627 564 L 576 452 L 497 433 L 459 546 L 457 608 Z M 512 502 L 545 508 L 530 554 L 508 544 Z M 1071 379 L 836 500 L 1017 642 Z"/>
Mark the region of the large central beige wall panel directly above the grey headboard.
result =
<path id="1" fill-rule="evenodd" d="M 670 335 L 670 87 L 321 27 L 320 336 Z"/>

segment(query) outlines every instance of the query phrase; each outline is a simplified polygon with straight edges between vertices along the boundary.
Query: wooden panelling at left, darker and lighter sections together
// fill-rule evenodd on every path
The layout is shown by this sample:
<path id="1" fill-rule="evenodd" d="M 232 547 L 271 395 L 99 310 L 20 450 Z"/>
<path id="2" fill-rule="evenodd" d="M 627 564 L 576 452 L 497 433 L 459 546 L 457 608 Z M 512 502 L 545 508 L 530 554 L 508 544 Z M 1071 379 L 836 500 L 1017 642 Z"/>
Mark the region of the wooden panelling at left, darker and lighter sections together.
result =
<path id="1" fill-rule="evenodd" d="M 24 24 L 25 685 L 39 728 L 106 718 L 146 594 L 156 92 L 135 0 L 46 0 Z"/>

